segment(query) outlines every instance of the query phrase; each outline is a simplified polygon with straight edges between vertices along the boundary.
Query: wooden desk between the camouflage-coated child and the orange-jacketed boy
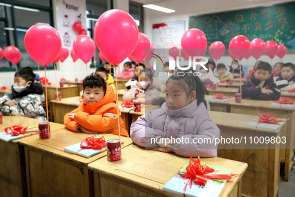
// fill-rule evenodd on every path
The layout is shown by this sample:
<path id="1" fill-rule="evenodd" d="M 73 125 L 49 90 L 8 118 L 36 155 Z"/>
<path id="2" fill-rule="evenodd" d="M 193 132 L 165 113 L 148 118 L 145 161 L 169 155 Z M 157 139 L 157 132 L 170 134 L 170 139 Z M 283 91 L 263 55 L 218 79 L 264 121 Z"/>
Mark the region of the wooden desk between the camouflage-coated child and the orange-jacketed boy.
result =
<path id="1" fill-rule="evenodd" d="M 45 86 L 42 85 L 45 91 Z M 70 85 L 64 84 L 63 87 L 60 87 L 60 85 L 57 86 L 58 92 L 61 93 L 61 98 L 68 98 L 73 96 L 78 96 L 78 85 Z M 55 85 L 47 86 L 47 99 L 48 100 L 55 100 L 55 92 L 56 87 Z"/>

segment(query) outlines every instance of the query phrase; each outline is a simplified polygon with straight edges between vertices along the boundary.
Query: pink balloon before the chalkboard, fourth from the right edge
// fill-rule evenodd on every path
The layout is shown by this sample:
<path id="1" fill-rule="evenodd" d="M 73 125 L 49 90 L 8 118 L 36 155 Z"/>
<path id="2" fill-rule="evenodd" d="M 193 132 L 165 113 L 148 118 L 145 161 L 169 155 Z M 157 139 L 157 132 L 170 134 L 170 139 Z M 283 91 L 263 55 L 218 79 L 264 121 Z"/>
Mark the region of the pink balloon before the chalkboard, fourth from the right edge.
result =
<path id="1" fill-rule="evenodd" d="M 231 53 L 239 60 L 243 59 L 250 48 L 250 41 L 245 35 L 237 35 L 231 41 L 229 48 Z"/>

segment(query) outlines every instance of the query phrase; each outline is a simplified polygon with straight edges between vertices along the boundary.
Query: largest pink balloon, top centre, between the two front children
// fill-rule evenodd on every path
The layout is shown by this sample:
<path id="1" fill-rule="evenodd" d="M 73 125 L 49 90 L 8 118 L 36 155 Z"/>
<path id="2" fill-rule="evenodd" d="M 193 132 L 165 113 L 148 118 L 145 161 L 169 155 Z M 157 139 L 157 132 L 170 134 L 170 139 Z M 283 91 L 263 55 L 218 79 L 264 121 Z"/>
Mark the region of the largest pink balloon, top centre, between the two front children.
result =
<path id="1" fill-rule="evenodd" d="M 97 19 L 94 38 L 103 56 L 118 66 L 134 50 L 138 41 L 138 27 L 126 11 L 110 9 Z"/>

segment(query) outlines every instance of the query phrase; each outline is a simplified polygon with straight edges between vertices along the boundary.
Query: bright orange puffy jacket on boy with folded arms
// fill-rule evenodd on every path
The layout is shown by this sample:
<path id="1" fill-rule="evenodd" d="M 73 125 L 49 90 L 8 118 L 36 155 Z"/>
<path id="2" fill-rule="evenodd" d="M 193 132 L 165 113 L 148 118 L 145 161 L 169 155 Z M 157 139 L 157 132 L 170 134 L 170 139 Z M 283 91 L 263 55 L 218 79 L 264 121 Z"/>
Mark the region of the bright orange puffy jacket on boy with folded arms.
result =
<path id="1" fill-rule="evenodd" d="M 68 113 L 64 115 L 64 125 L 76 132 L 77 126 L 81 125 L 89 130 L 96 132 L 107 132 L 119 135 L 118 117 L 120 118 L 120 131 L 122 136 L 129 137 L 123 120 L 117 113 L 116 96 L 114 89 L 109 85 L 106 86 L 104 97 L 95 104 L 82 102 L 78 108 L 71 112 L 76 113 L 74 120 L 68 117 Z"/>

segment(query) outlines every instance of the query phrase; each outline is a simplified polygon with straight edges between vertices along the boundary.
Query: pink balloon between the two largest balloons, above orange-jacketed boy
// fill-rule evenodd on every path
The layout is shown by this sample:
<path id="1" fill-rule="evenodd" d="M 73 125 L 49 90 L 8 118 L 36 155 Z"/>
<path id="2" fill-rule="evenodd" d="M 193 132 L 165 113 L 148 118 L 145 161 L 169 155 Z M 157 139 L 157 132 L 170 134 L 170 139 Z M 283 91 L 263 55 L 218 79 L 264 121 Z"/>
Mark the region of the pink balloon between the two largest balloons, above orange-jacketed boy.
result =
<path id="1" fill-rule="evenodd" d="M 95 43 L 88 35 L 78 35 L 73 42 L 73 50 L 76 55 L 87 63 L 95 53 Z"/>

